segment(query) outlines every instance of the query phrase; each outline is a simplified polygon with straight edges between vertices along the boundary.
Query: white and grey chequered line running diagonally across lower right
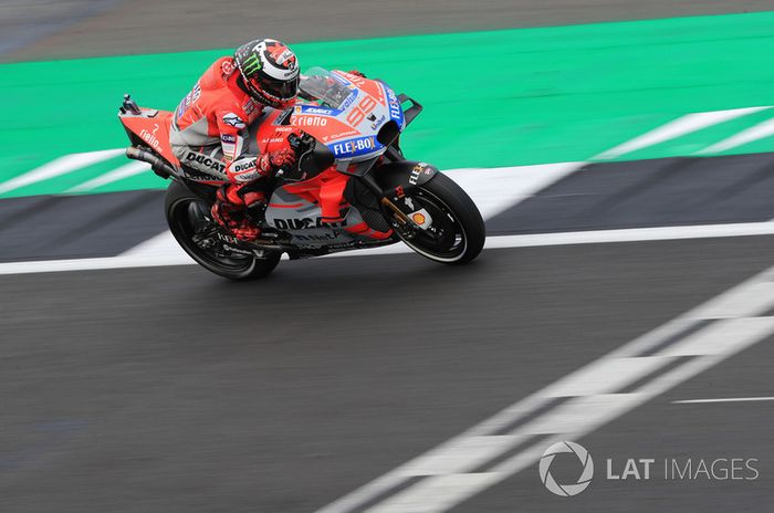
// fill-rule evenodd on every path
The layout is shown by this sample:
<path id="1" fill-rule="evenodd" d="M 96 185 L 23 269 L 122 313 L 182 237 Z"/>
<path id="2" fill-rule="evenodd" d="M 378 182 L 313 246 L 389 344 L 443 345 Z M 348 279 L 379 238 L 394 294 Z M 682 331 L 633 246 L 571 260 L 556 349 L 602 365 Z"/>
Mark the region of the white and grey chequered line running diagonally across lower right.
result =
<path id="1" fill-rule="evenodd" d="M 533 465 L 552 443 L 562 440 L 577 440 L 656 396 L 710 369 L 750 345 L 771 336 L 774 333 L 774 317 L 754 317 L 752 314 L 761 311 L 763 305 L 774 301 L 774 290 L 760 286 L 761 283 L 767 283 L 772 280 L 774 280 L 774 268 L 751 278 L 713 301 L 687 312 L 603 358 L 582 367 L 559 381 L 511 405 L 492 418 L 387 472 L 375 481 L 318 510 L 317 513 L 352 513 L 360 511 L 359 507 L 363 504 L 374 501 L 376 502 L 364 511 L 370 513 L 440 513 L 454 507 L 472 495 L 502 482 L 513 473 Z M 744 294 L 752 296 L 759 304 L 746 302 L 744 307 L 738 308 L 734 307 L 733 303 L 726 301 L 728 299 L 741 297 Z M 712 308 L 715 311 L 718 305 L 726 305 L 731 310 L 723 312 L 724 316 L 729 317 L 735 313 L 738 317 L 707 323 L 694 334 L 688 335 L 684 338 L 686 343 L 676 341 L 652 356 L 638 356 L 644 348 L 658 346 L 659 342 L 681 333 L 687 326 L 693 324 L 698 312 L 710 312 L 711 308 L 708 307 L 708 304 L 713 305 Z M 720 343 L 720 338 L 723 338 L 724 342 Z M 707 344 L 697 343 L 699 339 L 703 339 Z M 674 352 L 673 347 L 680 349 Z M 690 353 L 692 357 L 684 363 L 669 356 L 687 353 Z M 644 362 L 636 364 L 635 360 L 639 358 Z M 669 362 L 680 364 L 660 374 L 651 373 L 665 368 Z M 647 374 L 651 377 L 631 392 L 611 390 L 615 386 L 630 381 L 623 375 L 632 371 L 638 376 Z M 615 381 L 615 385 L 606 386 L 600 376 Z M 569 396 L 569 398 L 557 402 L 553 408 L 533 415 L 541 405 L 552 405 L 550 401 L 559 392 Z M 519 423 L 520 420 L 522 423 Z M 514 428 L 509 431 L 510 426 L 514 426 Z M 490 467 L 480 465 L 483 453 L 491 457 L 492 452 L 499 448 L 503 451 L 501 456 L 504 456 L 504 452 L 509 450 L 506 448 L 513 447 L 508 443 L 508 438 L 502 439 L 502 441 L 495 439 L 488 441 L 487 437 L 494 436 L 517 438 L 538 436 L 538 439 Z M 464 448 L 464 450 L 460 450 L 460 448 Z M 447 467 L 442 465 L 444 457 L 449 461 Z M 480 470 L 480 472 L 466 472 L 462 470 L 466 468 Z M 412 477 L 423 479 L 409 486 L 400 488 L 407 479 Z M 389 493 L 390 490 L 395 489 L 398 491 Z"/>

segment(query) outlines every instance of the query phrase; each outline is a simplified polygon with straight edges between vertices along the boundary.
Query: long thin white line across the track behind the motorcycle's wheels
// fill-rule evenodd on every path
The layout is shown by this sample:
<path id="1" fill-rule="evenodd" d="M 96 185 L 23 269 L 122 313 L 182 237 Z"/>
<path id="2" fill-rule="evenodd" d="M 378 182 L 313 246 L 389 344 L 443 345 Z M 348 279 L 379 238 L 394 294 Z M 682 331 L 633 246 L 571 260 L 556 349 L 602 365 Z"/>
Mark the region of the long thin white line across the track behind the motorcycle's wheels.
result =
<path id="1" fill-rule="evenodd" d="M 540 233 L 530 235 L 488 237 L 485 250 L 508 248 L 537 248 L 545 245 L 607 244 L 613 242 L 667 241 L 724 237 L 751 237 L 774 234 L 774 222 L 747 222 L 736 224 L 705 224 L 692 227 L 632 228 L 626 230 L 580 231 L 566 233 Z M 383 248 L 334 253 L 330 258 L 374 256 L 411 253 L 397 243 Z M 155 268 L 187 265 L 194 261 L 175 241 L 170 232 L 164 232 L 118 256 L 77 260 L 42 260 L 0 263 L 2 274 L 30 274 L 62 271 L 92 271 L 102 269 Z"/>

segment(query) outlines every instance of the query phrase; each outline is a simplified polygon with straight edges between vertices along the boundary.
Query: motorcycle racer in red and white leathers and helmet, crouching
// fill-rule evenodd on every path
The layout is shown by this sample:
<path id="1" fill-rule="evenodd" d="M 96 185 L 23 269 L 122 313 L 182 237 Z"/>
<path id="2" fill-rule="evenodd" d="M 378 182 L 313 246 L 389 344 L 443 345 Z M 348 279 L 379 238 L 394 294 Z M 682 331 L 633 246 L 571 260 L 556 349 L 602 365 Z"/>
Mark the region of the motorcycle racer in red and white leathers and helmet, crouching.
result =
<path id="1" fill-rule="evenodd" d="M 228 178 L 211 213 L 242 240 L 255 240 L 261 233 L 247 209 L 259 216 L 265 209 L 262 184 L 296 159 L 290 146 L 259 155 L 247 139 L 247 127 L 265 107 L 293 105 L 299 77 L 296 56 L 285 44 L 272 39 L 250 41 L 233 56 L 212 63 L 172 116 L 169 140 L 180 164 L 217 179 Z"/>

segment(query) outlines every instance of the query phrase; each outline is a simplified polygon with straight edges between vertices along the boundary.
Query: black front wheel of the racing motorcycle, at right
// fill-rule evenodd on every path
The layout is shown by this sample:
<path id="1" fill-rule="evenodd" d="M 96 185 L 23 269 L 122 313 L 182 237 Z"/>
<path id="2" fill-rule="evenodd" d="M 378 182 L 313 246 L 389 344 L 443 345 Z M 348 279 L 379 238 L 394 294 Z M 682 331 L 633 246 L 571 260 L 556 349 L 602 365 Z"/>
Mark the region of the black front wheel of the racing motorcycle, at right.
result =
<path id="1" fill-rule="evenodd" d="M 396 230 L 414 251 L 436 262 L 460 265 L 481 253 L 487 229 L 472 199 L 451 178 L 438 174 L 410 195 L 414 211 L 423 209 L 431 222 L 411 232 Z"/>

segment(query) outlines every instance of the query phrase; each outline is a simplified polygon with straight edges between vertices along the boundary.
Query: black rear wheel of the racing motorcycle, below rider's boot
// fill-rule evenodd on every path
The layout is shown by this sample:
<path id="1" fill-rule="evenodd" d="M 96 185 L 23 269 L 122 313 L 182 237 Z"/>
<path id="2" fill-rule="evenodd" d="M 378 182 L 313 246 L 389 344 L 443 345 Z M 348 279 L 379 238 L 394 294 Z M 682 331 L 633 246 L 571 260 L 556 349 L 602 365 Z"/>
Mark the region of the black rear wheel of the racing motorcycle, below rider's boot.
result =
<path id="1" fill-rule="evenodd" d="M 165 212 L 178 244 L 202 268 L 230 280 L 255 280 L 269 275 L 280 262 L 279 252 L 265 258 L 226 253 L 219 245 L 198 244 L 196 237 L 211 231 L 210 206 L 185 186 L 174 181 L 167 189 Z"/>

